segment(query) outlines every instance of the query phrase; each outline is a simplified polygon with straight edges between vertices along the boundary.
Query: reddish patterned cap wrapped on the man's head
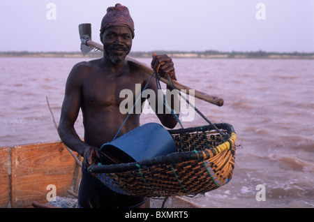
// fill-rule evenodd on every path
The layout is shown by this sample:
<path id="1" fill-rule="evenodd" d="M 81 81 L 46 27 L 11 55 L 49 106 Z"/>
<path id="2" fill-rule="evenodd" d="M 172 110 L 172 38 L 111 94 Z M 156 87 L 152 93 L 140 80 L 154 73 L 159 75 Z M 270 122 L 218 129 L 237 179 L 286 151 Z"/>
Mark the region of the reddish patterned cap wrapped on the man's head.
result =
<path id="1" fill-rule="evenodd" d="M 132 31 L 132 38 L 134 38 L 134 22 L 126 6 L 121 6 L 117 3 L 114 7 L 107 8 L 107 14 L 101 21 L 100 40 L 102 33 L 109 27 L 128 27 Z"/>

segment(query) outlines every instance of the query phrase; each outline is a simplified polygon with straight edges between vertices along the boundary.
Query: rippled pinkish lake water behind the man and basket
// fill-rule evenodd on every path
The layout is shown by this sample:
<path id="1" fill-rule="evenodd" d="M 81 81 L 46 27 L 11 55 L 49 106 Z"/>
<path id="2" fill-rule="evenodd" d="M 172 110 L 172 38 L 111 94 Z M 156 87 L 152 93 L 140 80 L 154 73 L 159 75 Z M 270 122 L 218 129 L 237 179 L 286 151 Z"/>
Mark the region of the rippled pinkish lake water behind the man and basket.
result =
<path id="1" fill-rule="evenodd" d="M 70 69 L 90 58 L 0 58 L 0 147 L 59 141 L 57 122 Z M 138 59 L 150 64 L 149 59 Z M 314 207 L 314 61 L 174 59 L 178 82 L 223 98 L 195 98 L 211 122 L 237 133 L 231 182 L 200 198 L 200 207 Z M 142 114 L 142 124 L 157 121 Z M 207 124 L 195 113 L 184 127 Z M 82 115 L 75 124 L 83 137 Z M 179 128 L 179 125 L 178 125 Z M 264 186 L 265 199 L 256 196 Z"/>

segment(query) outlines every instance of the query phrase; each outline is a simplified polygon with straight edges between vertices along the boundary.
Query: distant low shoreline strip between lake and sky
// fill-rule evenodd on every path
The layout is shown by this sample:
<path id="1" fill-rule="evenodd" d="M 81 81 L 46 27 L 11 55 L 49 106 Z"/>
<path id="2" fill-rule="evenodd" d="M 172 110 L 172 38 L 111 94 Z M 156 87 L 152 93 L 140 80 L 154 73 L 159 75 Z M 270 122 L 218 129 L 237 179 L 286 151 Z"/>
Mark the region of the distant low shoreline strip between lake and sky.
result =
<path id="1" fill-rule="evenodd" d="M 314 59 L 313 53 L 303 52 L 174 52 L 154 51 L 157 54 L 168 54 L 172 58 L 198 58 L 198 59 Z M 153 52 L 130 52 L 131 57 L 151 58 Z M 89 52 L 83 55 L 81 52 L 0 52 L 0 57 L 57 57 L 57 58 L 81 58 L 81 57 L 102 57 L 103 52 Z"/>

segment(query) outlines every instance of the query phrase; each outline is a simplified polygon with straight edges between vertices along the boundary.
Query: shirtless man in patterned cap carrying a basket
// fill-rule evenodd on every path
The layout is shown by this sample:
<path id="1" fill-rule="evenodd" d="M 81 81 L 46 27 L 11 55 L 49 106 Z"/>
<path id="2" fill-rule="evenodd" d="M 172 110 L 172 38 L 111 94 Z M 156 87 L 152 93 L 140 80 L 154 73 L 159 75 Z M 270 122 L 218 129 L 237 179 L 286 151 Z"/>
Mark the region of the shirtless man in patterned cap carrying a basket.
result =
<path id="1" fill-rule="evenodd" d="M 127 114 L 122 114 L 119 110 L 121 101 L 125 99 L 119 98 L 120 91 L 130 89 L 135 95 L 135 84 L 141 84 L 143 89 L 149 80 L 149 75 L 125 60 L 134 35 L 134 24 L 128 8 L 121 4 L 107 8 L 100 29 L 103 58 L 76 64 L 68 75 L 58 132 L 70 149 L 84 157 L 79 191 L 80 207 L 138 207 L 146 201 L 146 198 L 114 193 L 86 172 L 89 165 L 99 161 L 98 149 L 104 143 L 112 141 L 126 119 Z M 167 55 L 154 55 L 151 66 L 160 76 L 169 75 L 176 80 L 174 64 Z M 158 95 L 155 81 L 150 81 L 147 89 L 154 90 Z M 158 96 L 156 100 L 157 98 Z M 136 100 L 135 96 L 133 100 Z M 144 103 L 144 99 L 140 102 Z M 84 142 L 74 128 L 80 109 L 84 123 Z M 176 126 L 177 120 L 172 114 L 156 114 L 163 126 Z M 130 114 L 118 136 L 138 126 L 140 114 Z M 119 156 L 115 158 L 119 159 Z"/>

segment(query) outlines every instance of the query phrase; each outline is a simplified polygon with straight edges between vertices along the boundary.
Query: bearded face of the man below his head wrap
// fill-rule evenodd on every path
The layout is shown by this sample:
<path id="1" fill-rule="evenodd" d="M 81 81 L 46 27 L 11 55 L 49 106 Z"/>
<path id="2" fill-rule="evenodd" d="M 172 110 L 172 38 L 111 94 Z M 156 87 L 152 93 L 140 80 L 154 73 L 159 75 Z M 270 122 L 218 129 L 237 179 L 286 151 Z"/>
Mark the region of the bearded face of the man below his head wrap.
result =
<path id="1" fill-rule="evenodd" d="M 105 57 L 113 64 L 124 61 L 132 47 L 132 32 L 128 27 L 110 27 L 103 32 Z"/>

